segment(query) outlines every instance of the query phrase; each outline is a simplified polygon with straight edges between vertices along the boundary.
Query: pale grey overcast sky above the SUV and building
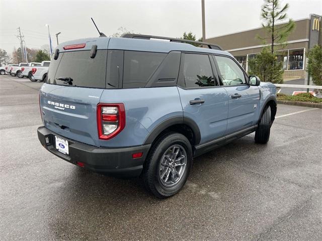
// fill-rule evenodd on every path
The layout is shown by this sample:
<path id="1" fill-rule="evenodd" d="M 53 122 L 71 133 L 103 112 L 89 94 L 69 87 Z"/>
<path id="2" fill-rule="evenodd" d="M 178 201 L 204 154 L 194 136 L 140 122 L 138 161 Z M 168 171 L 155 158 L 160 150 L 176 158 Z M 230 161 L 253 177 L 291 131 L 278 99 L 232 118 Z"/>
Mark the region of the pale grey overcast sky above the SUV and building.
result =
<path id="1" fill-rule="evenodd" d="M 289 3 L 293 20 L 322 14 L 321 0 L 282 0 Z M 205 0 L 206 38 L 257 28 L 263 0 Z M 120 27 L 140 34 L 180 37 L 192 31 L 201 37 L 201 0 L 195 1 L 15 1 L 0 0 L 0 48 L 12 53 L 19 47 L 20 27 L 27 47 L 48 44 L 49 24 L 53 47 L 59 41 L 96 37 L 93 17 L 107 36 Z"/>

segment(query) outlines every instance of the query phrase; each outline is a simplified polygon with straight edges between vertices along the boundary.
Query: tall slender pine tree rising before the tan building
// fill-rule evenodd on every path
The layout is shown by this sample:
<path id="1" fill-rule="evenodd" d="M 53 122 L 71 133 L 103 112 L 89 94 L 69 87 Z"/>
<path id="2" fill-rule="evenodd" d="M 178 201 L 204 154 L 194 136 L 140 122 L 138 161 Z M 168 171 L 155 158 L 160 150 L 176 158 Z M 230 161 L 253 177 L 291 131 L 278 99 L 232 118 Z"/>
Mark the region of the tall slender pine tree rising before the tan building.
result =
<path id="1" fill-rule="evenodd" d="M 284 22 L 287 19 L 286 11 L 289 5 L 285 4 L 283 8 L 280 7 L 279 0 L 264 0 L 262 6 L 261 17 L 263 19 L 262 26 L 266 29 L 269 37 L 259 37 L 266 42 L 266 39 L 271 40 L 271 53 L 274 53 L 276 44 L 285 46 L 288 36 L 295 28 L 294 22 L 289 19 L 288 23 L 276 26 L 279 22 Z"/>

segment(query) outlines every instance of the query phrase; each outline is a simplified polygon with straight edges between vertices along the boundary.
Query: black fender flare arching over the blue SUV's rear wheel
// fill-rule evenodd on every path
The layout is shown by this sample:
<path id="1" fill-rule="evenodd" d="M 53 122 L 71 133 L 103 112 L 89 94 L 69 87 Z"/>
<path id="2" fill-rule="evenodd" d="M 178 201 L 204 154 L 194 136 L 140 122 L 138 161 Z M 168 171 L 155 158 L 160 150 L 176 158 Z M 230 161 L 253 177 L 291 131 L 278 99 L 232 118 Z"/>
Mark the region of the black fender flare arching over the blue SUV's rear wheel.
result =
<path id="1" fill-rule="evenodd" d="M 173 116 L 159 125 L 157 125 L 147 136 L 147 138 L 144 141 L 144 144 L 150 144 L 152 143 L 156 137 L 162 133 L 164 130 L 167 128 L 174 126 L 174 125 L 187 125 L 188 127 L 191 128 L 193 135 L 194 135 L 194 143 L 195 145 L 198 145 L 201 140 L 201 135 L 200 135 L 200 130 L 198 125 L 195 123 L 195 121 L 189 117 L 184 117 L 184 116 Z"/>

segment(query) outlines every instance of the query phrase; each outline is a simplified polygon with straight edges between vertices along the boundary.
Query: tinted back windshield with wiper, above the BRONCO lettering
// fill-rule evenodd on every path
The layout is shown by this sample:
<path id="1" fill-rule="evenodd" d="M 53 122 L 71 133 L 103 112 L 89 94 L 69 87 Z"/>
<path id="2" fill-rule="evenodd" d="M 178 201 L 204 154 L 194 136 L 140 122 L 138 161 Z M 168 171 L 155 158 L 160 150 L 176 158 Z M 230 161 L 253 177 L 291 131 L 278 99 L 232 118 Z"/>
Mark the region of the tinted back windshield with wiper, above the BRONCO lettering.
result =
<path id="1" fill-rule="evenodd" d="M 50 63 L 47 83 L 105 88 L 106 60 L 107 50 L 98 50 L 94 59 L 90 57 L 90 50 L 60 53 L 58 59 L 52 59 Z M 58 78 L 71 78 L 72 81 L 67 83 Z"/>

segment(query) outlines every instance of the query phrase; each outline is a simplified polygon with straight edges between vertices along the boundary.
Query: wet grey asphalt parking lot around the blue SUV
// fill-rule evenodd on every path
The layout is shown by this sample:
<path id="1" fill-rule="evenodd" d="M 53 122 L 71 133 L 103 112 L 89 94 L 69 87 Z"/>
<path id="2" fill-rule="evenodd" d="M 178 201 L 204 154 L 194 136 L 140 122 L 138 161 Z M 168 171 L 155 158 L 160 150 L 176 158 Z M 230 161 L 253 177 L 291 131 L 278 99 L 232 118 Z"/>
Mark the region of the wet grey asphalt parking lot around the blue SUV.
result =
<path id="1" fill-rule="evenodd" d="M 0 76 L 0 240 L 322 240 L 322 109 L 278 105 L 267 145 L 250 134 L 196 158 L 159 200 L 47 152 L 41 84 Z"/>

